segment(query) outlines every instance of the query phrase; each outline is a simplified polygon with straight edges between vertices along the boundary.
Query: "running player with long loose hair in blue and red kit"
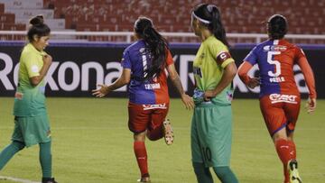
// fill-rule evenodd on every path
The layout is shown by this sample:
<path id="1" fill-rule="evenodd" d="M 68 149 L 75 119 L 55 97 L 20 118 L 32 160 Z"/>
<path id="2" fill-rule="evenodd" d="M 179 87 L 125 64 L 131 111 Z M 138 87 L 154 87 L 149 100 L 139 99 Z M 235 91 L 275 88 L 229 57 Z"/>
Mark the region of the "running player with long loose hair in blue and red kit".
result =
<path id="1" fill-rule="evenodd" d="M 152 20 L 139 17 L 134 31 L 137 41 L 124 51 L 122 75 L 110 86 L 98 85 L 100 88 L 93 90 L 93 95 L 103 97 L 128 85 L 128 126 L 134 133 L 135 157 L 141 171 L 138 181 L 150 182 L 145 136 L 151 141 L 164 137 L 168 145 L 173 141 L 172 126 L 166 120 L 170 103 L 167 78 L 172 80 L 186 108 L 193 108 L 194 103 L 185 94 L 167 42 L 154 29 Z"/>

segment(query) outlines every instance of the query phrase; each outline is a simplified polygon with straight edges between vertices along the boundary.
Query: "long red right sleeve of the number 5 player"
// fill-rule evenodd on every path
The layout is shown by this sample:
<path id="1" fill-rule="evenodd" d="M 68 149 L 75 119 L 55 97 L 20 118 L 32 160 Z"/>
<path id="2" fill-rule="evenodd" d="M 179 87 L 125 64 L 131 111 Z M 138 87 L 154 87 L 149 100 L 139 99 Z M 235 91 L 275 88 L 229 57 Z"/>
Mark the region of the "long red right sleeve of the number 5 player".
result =
<path id="1" fill-rule="evenodd" d="M 307 87 L 310 91 L 310 97 L 316 98 L 317 94 L 315 89 L 315 78 L 313 76 L 313 72 L 311 66 L 308 63 L 308 60 L 306 59 L 306 57 L 301 57 L 297 60 L 297 64 L 302 69 L 303 77 L 305 78 Z"/>

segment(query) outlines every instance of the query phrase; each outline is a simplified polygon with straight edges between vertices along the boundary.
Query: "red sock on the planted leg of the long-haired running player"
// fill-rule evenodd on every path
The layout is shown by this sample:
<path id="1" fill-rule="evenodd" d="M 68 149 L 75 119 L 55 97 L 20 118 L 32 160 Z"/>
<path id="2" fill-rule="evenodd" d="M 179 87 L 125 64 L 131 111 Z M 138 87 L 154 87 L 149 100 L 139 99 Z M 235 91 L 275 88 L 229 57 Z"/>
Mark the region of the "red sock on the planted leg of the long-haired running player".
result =
<path id="1" fill-rule="evenodd" d="M 148 177 L 148 160 L 144 142 L 134 142 L 135 158 L 141 171 L 142 177 Z"/>

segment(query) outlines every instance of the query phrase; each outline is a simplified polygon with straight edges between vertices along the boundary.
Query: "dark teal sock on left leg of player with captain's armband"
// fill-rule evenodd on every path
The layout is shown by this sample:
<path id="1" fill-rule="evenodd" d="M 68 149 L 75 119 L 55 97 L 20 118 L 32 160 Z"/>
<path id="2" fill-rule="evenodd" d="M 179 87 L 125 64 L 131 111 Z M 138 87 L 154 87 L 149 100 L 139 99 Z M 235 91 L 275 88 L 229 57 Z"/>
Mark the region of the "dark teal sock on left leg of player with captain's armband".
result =
<path id="1" fill-rule="evenodd" d="M 203 163 L 192 162 L 195 175 L 198 179 L 198 183 L 213 183 L 213 178 L 209 168 L 206 168 Z"/>

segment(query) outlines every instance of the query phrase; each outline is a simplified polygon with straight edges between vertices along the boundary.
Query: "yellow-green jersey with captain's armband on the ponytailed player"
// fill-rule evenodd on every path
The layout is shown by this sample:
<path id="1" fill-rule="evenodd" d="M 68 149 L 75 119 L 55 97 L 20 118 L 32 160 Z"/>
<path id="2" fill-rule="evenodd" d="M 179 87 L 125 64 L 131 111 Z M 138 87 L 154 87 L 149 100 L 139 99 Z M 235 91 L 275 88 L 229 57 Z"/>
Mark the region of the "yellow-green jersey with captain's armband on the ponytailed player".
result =
<path id="1" fill-rule="evenodd" d="M 203 41 L 193 62 L 193 72 L 196 89 L 201 91 L 212 90 L 218 86 L 224 69 L 233 62 L 228 47 L 218 41 L 216 37 L 209 36 Z M 211 101 L 216 105 L 230 105 L 233 91 L 231 85 L 226 87 Z"/>

